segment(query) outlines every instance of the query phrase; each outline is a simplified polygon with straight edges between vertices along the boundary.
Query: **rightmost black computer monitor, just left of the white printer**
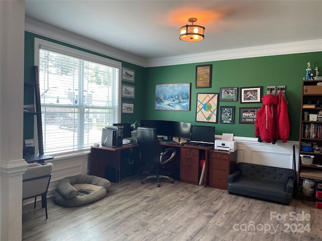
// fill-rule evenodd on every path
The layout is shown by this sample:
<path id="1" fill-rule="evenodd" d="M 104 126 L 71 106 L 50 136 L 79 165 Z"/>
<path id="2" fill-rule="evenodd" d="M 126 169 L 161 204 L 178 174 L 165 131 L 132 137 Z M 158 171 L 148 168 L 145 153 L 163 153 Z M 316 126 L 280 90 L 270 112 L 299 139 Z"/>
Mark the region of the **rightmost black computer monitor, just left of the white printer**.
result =
<path id="1" fill-rule="evenodd" d="M 215 127 L 192 126 L 190 142 L 200 144 L 214 144 Z"/>

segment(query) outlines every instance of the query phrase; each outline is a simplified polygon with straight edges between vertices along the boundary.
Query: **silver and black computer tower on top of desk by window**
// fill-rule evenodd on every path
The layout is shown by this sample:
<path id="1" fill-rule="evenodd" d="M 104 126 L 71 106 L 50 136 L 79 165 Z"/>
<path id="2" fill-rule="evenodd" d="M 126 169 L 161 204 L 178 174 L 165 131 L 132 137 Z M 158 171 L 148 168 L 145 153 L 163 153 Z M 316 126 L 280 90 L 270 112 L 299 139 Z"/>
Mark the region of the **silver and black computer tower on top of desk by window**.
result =
<path id="1" fill-rule="evenodd" d="M 103 147 L 121 147 L 123 145 L 123 127 L 105 127 L 102 129 Z"/>

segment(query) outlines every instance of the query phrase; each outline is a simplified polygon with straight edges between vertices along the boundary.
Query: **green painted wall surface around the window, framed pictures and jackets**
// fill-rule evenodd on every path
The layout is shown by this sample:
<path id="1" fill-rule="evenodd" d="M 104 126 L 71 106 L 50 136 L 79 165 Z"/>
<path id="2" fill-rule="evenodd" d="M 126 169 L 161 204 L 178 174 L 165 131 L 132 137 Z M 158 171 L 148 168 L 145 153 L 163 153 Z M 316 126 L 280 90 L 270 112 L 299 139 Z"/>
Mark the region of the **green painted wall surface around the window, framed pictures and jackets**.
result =
<path id="1" fill-rule="evenodd" d="M 95 53 L 86 49 L 78 48 L 66 43 L 52 40 L 43 36 L 25 32 L 25 82 L 33 82 L 32 67 L 34 65 L 34 39 L 40 38 L 67 47 L 96 54 L 102 57 L 120 61 L 109 56 Z M 267 86 L 286 86 L 286 99 L 288 100 L 290 114 L 290 138 L 298 140 L 299 116 L 301 101 L 301 84 L 305 77 L 307 62 L 311 67 L 322 68 L 322 52 L 289 54 L 268 57 L 256 57 L 246 59 L 233 59 L 222 61 L 211 61 L 194 64 L 181 64 L 173 66 L 162 66 L 143 68 L 128 62 L 122 62 L 125 68 L 135 70 L 135 83 L 122 81 L 123 84 L 135 86 L 135 99 L 122 98 L 122 102 L 134 103 L 134 114 L 122 114 L 122 122 L 134 122 L 141 119 L 162 119 L 190 122 L 193 125 L 215 125 L 216 134 L 233 133 L 235 136 L 254 137 L 254 124 L 238 124 L 238 107 L 260 107 L 261 103 L 239 102 L 239 88 L 263 86 L 262 95 L 266 95 Z M 211 88 L 195 88 L 196 65 L 212 65 Z M 155 84 L 165 83 L 191 83 L 190 110 L 170 111 L 155 110 Z M 196 95 L 197 93 L 219 93 L 220 87 L 238 87 L 237 101 L 219 101 L 219 106 L 235 106 L 234 124 L 209 124 L 195 121 Z M 33 88 L 25 87 L 25 103 L 33 103 Z M 219 115 L 219 111 L 218 111 Z M 33 138 L 33 116 L 25 115 L 24 139 Z"/>

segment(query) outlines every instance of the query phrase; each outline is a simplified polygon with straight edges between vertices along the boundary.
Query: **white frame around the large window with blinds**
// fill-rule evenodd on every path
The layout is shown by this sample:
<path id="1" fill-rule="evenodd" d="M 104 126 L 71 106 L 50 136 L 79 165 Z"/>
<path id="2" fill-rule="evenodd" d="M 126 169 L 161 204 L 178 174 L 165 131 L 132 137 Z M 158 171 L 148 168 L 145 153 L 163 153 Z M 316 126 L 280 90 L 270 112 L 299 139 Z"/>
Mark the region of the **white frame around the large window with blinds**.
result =
<path id="1" fill-rule="evenodd" d="M 60 44 L 56 44 L 50 41 L 46 41 L 43 39 L 39 39 L 39 38 L 35 38 L 35 43 L 34 43 L 34 65 L 39 66 L 39 51 L 40 49 L 44 49 L 47 51 L 51 51 L 51 52 L 55 52 L 58 54 L 62 54 L 62 55 L 67 55 L 67 56 L 71 56 L 74 58 L 78 58 L 78 59 L 83 59 L 89 62 L 94 62 L 94 63 L 98 63 L 98 64 L 102 64 L 102 65 L 107 65 L 107 66 L 111 66 L 114 68 L 118 68 L 119 69 L 119 78 L 118 78 L 118 119 L 121 119 L 121 87 L 122 87 L 122 63 L 112 60 L 112 59 L 108 59 L 108 58 L 104 58 L 98 55 L 94 55 L 94 54 L 90 54 L 81 50 L 77 50 L 77 49 L 73 49 L 73 48 L 69 48 Z M 34 144 L 36 147 L 38 147 L 38 134 L 37 134 L 37 122 L 34 121 Z M 38 149 L 38 148 L 37 148 Z M 79 153 L 79 152 L 84 152 L 88 149 L 85 150 L 78 150 L 76 152 L 73 153 Z M 37 152 L 39 150 L 36 150 Z M 66 153 L 70 154 L 70 153 Z M 61 154 L 57 154 L 57 155 L 61 155 Z M 55 155 L 52 155 L 55 156 Z"/>

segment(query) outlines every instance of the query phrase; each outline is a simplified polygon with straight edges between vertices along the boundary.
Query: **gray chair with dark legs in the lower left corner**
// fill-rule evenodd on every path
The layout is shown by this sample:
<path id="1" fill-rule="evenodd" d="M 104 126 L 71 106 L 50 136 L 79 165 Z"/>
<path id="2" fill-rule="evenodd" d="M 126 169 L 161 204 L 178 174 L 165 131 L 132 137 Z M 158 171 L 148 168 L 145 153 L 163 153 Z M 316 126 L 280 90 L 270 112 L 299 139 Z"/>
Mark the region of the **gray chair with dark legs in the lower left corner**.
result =
<path id="1" fill-rule="evenodd" d="M 22 200 L 35 198 L 34 208 L 36 208 L 36 199 L 41 196 L 42 207 L 45 208 L 47 215 L 47 192 L 51 178 L 52 163 L 29 164 L 27 171 L 23 175 Z"/>

